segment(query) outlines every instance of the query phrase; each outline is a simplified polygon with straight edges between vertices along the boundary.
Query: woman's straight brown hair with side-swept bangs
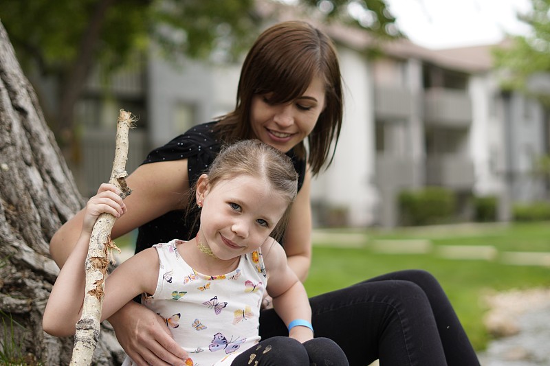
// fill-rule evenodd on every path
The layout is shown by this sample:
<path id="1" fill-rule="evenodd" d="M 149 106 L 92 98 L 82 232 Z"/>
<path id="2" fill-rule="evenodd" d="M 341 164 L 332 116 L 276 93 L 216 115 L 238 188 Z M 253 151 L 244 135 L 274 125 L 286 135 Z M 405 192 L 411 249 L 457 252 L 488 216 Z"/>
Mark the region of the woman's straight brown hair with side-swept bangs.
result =
<path id="1" fill-rule="evenodd" d="M 259 36 L 241 69 L 236 108 L 217 124 L 221 139 L 232 143 L 250 138 L 250 106 L 254 95 L 271 93 L 271 103 L 289 103 L 303 95 L 316 76 L 325 82 L 325 109 L 307 137 L 309 157 L 304 141 L 294 147 L 294 152 L 300 159 L 307 157 L 311 172 L 318 174 L 329 155 L 327 166 L 332 162 L 340 136 L 342 78 L 331 39 L 309 23 L 278 23 Z"/>

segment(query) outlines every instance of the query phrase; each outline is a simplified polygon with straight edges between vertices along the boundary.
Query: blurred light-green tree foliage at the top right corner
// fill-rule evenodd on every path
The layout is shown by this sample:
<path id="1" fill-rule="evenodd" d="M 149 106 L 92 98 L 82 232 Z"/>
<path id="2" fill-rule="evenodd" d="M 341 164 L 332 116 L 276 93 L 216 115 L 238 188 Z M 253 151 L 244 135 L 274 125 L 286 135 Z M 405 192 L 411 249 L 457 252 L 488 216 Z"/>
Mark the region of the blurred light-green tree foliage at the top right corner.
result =
<path id="1" fill-rule="evenodd" d="M 530 12 L 518 14 L 518 19 L 529 25 L 531 32 L 510 36 L 503 47 L 494 50 L 495 66 L 502 72 L 504 89 L 531 93 L 533 77 L 550 72 L 550 1 L 531 0 L 531 3 Z M 549 105 L 549 90 L 536 94 Z"/>

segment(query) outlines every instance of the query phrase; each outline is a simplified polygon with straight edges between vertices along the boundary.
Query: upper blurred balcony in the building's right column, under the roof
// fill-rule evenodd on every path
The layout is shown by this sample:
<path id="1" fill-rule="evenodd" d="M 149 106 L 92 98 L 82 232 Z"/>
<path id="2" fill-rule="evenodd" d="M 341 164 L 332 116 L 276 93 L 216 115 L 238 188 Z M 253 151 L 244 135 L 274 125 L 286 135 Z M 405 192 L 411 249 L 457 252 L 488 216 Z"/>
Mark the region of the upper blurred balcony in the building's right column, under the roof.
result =
<path id="1" fill-rule="evenodd" d="M 463 90 L 432 88 L 424 94 L 424 120 L 440 127 L 467 128 L 472 123 L 472 101 Z"/>

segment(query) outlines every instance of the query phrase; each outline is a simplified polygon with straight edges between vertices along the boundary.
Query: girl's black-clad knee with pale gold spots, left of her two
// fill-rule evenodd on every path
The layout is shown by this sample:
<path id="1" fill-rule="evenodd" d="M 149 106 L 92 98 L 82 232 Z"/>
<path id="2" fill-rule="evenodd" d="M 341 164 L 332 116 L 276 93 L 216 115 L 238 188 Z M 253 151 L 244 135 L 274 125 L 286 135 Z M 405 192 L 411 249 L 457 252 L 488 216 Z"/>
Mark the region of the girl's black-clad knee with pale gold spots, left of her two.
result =
<path id="1" fill-rule="evenodd" d="M 309 357 L 302 343 L 288 336 L 274 336 L 236 356 L 231 366 L 305 366 Z"/>

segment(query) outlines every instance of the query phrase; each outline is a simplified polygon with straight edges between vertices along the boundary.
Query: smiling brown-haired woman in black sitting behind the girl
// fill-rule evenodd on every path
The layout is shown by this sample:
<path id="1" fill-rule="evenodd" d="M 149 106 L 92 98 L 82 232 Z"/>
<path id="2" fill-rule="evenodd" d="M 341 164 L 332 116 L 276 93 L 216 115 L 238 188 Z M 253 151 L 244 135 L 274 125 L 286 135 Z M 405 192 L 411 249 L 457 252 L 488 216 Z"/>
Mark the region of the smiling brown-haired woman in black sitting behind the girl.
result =
<path id="1" fill-rule="evenodd" d="M 196 225 L 181 222 L 189 187 L 221 144 L 260 139 L 292 157 L 298 172 L 299 191 L 283 244 L 289 266 L 304 280 L 311 261 L 311 178 L 331 162 L 342 105 L 330 39 L 303 22 L 270 27 L 245 58 L 235 110 L 153 150 L 128 177 L 133 194 L 126 198 L 128 212 L 115 223 L 113 238 L 139 227 L 137 251 L 192 238 Z M 72 251 L 82 217 L 76 214 L 52 238 L 50 253 L 59 266 Z M 387 365 L 478 365 L 441 286 L 423 271 L 391 273 L 320 295 L 311 299 L 311 308 L 316 336 L 336 341 L 350 365 L 369 365 L 376 358 Z M 109 321 L 138 365 L 176 364 L 184 356 L 162 319 L 139 304 L 127 304 Z M 262 339 L 287 334 L 274 310 L 263 310 L 260 334 Z"/>

